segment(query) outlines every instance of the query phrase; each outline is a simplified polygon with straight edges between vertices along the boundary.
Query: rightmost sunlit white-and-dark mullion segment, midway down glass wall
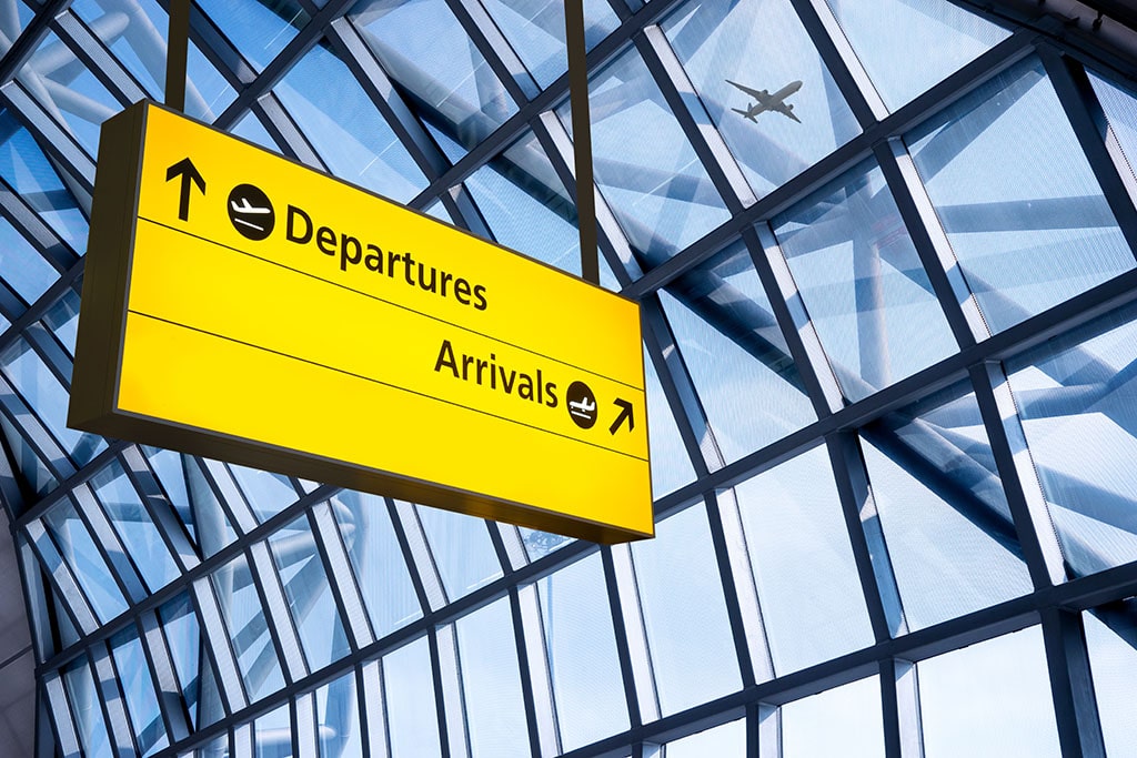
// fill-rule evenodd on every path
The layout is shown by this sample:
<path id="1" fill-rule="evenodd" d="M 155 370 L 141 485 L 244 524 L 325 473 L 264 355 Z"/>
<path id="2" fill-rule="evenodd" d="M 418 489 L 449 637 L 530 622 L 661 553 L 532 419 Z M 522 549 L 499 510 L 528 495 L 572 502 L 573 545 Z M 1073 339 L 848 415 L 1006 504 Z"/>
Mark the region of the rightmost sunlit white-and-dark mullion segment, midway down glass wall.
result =
<path id="1" fill-rule="evenodd" d="M 1061 584 L 1065 580 L 1062 548 L 1006 373 L 997 363 L 981 363 L 970 374 L 1031 583 L 1035 589 Z"/>

